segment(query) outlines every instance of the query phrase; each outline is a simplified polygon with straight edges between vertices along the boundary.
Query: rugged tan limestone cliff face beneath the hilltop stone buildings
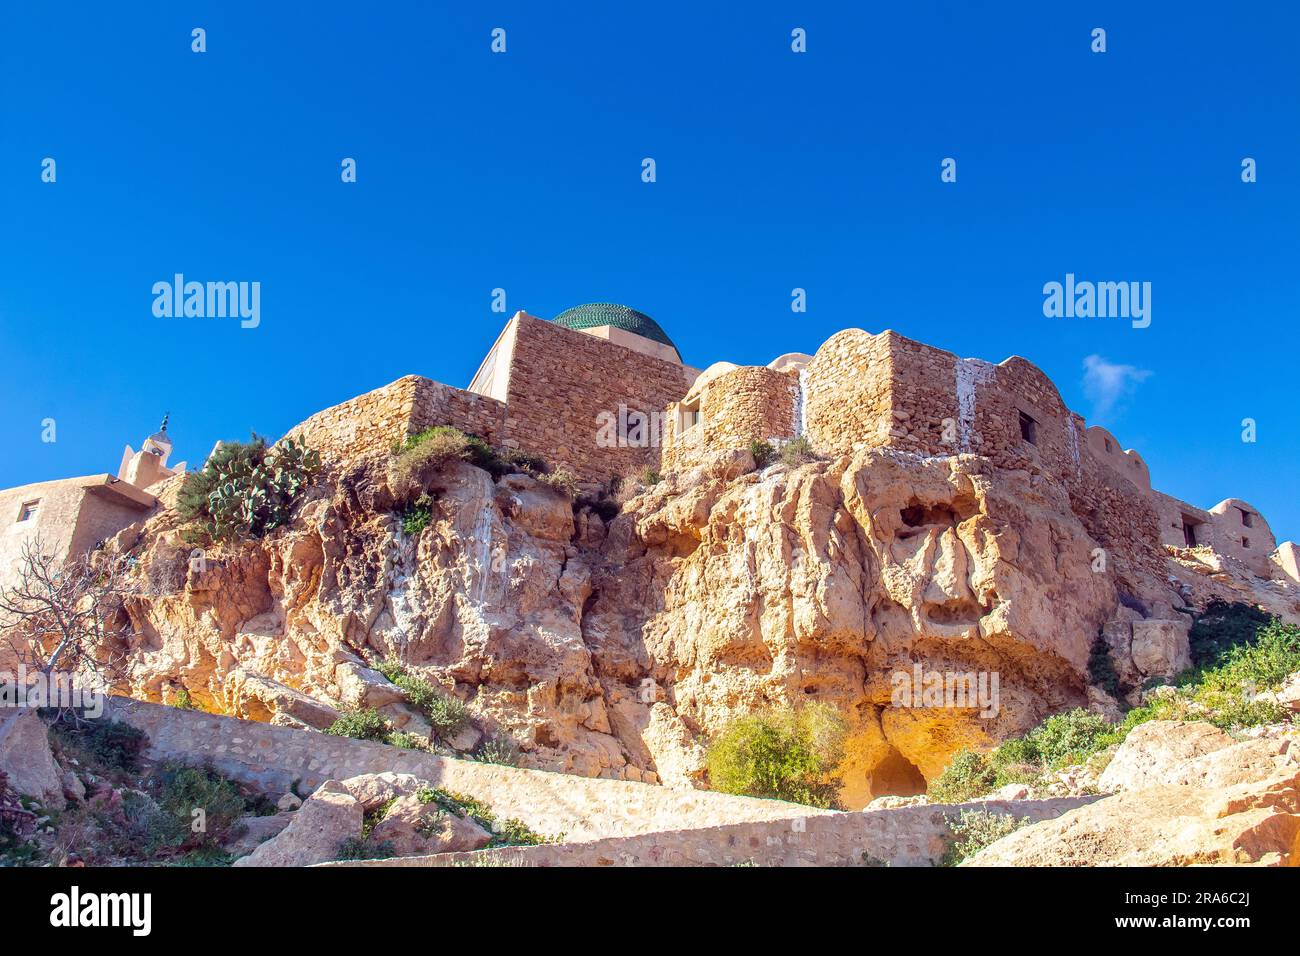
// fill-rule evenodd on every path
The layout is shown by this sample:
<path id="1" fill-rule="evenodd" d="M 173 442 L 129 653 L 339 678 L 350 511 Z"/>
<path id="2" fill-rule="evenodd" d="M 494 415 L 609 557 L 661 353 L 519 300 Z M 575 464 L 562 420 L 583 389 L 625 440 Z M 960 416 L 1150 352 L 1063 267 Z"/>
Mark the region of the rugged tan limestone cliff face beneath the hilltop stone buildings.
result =
<path id="1" fill-rule="evenodd" d="M 1170 581 L 1122 554 L 1096 568 L 1060 484 L 975 455 L 755 471 L 723 451 L 608 522 L 458 460 L 412 476 L 433 501 L 417 536 L 389 466 L 348 463 L 287 525 L 200 561 L 172 509 L 110 545 L 144 584 L 124 689 L 309 727 L 372 706 L 428 736 L 374 670 L 400 661 L 472 711 L 452 748 L 508 735 L 524 766 L 681 787 L 702 786 L 728 721 L 824 701 L 850 721 L 842 800 L 862 806 L 922 792 L 959 748 L 1096 706 L 1102 628 L 1135 675 L 1186 659 Z M 983 675 L 988 697 L 996 676 L 996 700 L 933 706 L 916 671 Z"/>

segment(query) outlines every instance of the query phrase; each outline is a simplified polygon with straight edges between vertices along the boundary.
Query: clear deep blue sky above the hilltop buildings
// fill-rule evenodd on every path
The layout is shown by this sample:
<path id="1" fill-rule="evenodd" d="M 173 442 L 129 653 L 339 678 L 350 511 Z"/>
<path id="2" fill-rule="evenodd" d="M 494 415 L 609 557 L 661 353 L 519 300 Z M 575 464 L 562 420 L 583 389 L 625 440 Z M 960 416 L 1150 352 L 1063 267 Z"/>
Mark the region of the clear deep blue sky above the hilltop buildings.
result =
<path id="1" fill-rule="evenodd" d="M 464 386 L 503 287 L 640 308 L 698 367 L 849 326 L 1023 355 L 1162 490 L 1300 536 L 1294 4 L 268 7 L 6 7 L 0 486 L 114 471 L 164 411 L 200 462 Z M 261 282 L 261 324 L 155 317 L 177 272 Z M 1067 272 L 1149 281 L 1150 326 L 1044 317 Z"/>

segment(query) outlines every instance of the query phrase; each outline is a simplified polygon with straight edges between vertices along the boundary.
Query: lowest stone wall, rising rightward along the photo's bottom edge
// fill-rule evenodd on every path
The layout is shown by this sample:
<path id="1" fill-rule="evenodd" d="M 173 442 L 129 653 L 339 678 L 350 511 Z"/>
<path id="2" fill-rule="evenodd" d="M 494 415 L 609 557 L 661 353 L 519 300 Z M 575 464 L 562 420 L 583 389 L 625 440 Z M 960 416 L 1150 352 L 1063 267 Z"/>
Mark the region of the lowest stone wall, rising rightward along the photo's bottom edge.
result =
<path id="1" fill-rule="evenodd" d="M 325 866 L 455 866 L 490 857 L 524 866 L 933 866 L 952 842 L 952 822 L 965 810 L 1054 819 L 1100 796 L 1056 800 L 989 800 L 959 806 L 897 806 L 816 817 L 737 822 L 689 830 L 607 838 L 476 853 L 367 860 Z"/>

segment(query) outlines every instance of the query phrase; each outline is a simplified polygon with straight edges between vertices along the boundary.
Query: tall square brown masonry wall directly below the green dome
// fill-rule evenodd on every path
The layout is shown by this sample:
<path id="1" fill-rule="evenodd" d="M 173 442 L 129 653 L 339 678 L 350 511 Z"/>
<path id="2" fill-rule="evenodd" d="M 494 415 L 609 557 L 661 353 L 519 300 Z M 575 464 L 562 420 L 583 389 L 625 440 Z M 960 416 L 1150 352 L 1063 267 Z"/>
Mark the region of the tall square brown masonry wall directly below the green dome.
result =
<path id="1" fill-rule="evenodd" d="M 658 423 L 690 388 L 684 365 L 624 349 L 532 316 L 519 316 L 511 356 L 503 444 L 542 455 L 586 481 L 658 466 Z M 620 406 L 653 418 L 644 446 L 602 446 L 604 412 Z M 655 425 L 655 427 L 651 427 Z"/>

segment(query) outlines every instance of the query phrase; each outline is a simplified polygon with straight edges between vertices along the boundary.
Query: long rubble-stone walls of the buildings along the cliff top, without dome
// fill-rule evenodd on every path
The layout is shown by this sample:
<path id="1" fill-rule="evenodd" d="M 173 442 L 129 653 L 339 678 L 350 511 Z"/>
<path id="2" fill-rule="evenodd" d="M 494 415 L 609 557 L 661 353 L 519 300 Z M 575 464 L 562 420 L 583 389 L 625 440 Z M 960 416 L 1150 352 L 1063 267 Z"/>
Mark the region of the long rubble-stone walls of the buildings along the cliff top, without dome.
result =
<path id="1" fill-rule="evenodd" d="M 387 450 L 407 434 L 451 424 L 540 455 L 585 481 L 641 467 L 682 467 L 701 454 L 801 433 L 820 454 L 890 446 L 923 455 L 974 453 L 997 467 L 1061 483 L 1088 533 L 1119 558 L 1164 575 L 1164 545 L 1182 546 L 1183 507 L 1152 490 L 1147 463 L 1108 431 L 1086 427 L 1050 378 L 1013 356 L 959 359 L 894 332 L 846 329 L 802 372 L 738 367 L 703 382 L 701 420 L 681 431 L 696 371 L 612 341 L 517 315 L 506 403 L 407 376 L 328 408 L 291 432 L 328 459 Z M 640 432 L 629 433 L 641 418 Z M 603 418 L 602 418 L 603 415 Z M 603 425 L 603 428 L 602 428 Z M 3 503 L 3 502 L 0 502 Z M 1191 506 L 1186 506 L 1191 510 Z M 1252 527 L 1238 527 L 1240 511 Z M 1268 576 L 1274 538 L 1257 510 L 1228 499 L 1206 514 L 1204 544 Z M 1248 542 L 1248 544 L 1245 544 Z"/>

